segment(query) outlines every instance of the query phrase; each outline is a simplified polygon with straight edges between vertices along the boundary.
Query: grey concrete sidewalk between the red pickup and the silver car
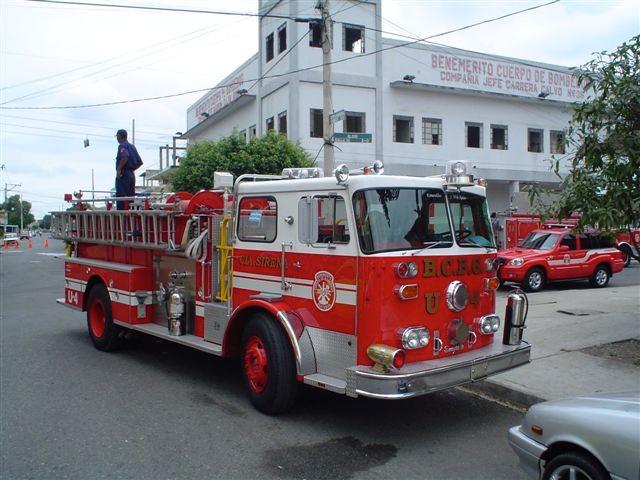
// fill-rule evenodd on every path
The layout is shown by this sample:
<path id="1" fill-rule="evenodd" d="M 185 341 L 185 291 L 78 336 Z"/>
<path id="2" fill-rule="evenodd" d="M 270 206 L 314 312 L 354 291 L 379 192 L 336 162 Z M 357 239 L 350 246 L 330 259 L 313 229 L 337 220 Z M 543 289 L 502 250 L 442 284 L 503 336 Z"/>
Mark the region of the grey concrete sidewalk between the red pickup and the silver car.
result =
<path id="1" fill-rule="evenodd" d="M 498 292 L 496 311 L 501 317 L 507 295 Z M 640 389 L 640 365 L 581 351 L 640 338 L 640 286 L 617 287 L 613 282 L 604 289 L 544 290 L 529 294 L 529 301 L 524 339 L 532 344 L 531 363 L 471 384 L 469 390 L 530 406 Z"/>

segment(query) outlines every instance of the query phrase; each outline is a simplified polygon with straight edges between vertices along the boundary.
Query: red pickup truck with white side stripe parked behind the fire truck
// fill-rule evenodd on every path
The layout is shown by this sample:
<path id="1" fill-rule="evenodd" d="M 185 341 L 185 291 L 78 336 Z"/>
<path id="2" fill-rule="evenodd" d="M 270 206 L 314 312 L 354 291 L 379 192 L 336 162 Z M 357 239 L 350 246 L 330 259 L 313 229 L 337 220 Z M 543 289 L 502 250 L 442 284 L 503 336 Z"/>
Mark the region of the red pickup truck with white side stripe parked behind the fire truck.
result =
<path id="1" fill-rule="evenodd" d="M 517 247 L 499 252 L 498 265 L 502 282 L 537 292 L 556 280 L 588 279 L 592 287 L 606 287 L 624 261 L 605 237 L 553 228 L 534 230 Z"/>

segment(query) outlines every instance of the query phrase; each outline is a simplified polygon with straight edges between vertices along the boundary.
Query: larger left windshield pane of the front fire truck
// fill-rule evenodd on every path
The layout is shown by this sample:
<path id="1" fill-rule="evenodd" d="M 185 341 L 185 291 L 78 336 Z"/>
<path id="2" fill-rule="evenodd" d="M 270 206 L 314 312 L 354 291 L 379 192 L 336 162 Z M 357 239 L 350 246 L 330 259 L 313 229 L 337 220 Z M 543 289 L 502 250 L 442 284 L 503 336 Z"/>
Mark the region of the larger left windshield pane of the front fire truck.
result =
<path id="1" fill-rule="evenodd" d="M 353 195 L 363 253 L 453 245 L 444 192 L 435 188 L 378 188 Z"/>

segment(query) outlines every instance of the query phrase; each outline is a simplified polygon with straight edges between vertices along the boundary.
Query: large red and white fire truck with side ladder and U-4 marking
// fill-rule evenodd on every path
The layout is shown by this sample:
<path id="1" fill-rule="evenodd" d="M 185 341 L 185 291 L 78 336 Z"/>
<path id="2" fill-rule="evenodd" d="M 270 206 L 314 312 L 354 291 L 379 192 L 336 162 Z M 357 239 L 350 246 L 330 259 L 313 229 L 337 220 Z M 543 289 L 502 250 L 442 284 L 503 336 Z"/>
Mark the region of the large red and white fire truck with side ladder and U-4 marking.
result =
<path id="1" fill-rule="evenodd" d="M 495 338 L 496 249 L 467 169 L 216 173 L 195 195 L 55 212 L 73 250 L 59 302 L 87 312 L 99 350 L 137 331 L 238 356 L 266 413 L 287 410 L 298 382 L 400 399 L 484 379 L 529 362 L 527 305 L 512 293 Z"/>

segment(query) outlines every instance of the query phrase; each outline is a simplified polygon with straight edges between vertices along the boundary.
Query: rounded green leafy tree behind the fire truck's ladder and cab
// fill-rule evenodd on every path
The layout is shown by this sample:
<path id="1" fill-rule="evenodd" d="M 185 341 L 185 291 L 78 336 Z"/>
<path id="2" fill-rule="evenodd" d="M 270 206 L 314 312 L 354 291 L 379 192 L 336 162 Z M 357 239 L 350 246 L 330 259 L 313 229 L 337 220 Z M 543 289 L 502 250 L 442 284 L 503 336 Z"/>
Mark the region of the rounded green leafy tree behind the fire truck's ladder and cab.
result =
<path id="1" fill-rule="evenodd" d="M 306 150 L 283 135 L 269 132 L 249 143 L 234 133 L 217 142 L 202 141 L 189 146 L 173 176 L 176 191 L 197 192 L 213 187 L 213 172 L 279 174 L 287 167 L 312 167 Z"/>

